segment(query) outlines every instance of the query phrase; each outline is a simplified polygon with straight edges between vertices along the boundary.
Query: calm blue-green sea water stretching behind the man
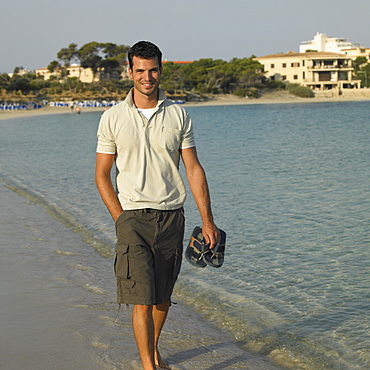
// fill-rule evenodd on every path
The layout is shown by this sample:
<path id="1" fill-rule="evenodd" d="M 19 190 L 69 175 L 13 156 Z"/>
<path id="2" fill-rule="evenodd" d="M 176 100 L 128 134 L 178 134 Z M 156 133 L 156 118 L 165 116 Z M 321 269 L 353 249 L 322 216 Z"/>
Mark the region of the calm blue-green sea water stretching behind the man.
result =
<path id="1" fill-rule="evenodd" d="M 184 107 L 227 241 L 219 269 L 184 259 L 175 300 L 287 368 L 370 369 L 370 102 Z M 94 183 L 100 115 L 0 122 L 1 180 L 96 265 L 115 243 Z M 190 191 L 185 215 L 184 247 L 201 224 Z"/>

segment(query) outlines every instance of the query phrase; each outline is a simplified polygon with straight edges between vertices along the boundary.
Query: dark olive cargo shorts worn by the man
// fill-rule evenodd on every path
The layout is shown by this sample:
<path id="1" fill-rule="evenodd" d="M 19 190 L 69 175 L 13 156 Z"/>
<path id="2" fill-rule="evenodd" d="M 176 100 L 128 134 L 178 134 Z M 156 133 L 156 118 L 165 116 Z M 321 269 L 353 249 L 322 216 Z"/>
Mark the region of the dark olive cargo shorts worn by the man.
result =
<path id="1" fill-rule="evenodd" d="M 180 272 L 184 211 L 124 211 L 116 220 L 118 303 L 157 305 L 170 299 Z"/>

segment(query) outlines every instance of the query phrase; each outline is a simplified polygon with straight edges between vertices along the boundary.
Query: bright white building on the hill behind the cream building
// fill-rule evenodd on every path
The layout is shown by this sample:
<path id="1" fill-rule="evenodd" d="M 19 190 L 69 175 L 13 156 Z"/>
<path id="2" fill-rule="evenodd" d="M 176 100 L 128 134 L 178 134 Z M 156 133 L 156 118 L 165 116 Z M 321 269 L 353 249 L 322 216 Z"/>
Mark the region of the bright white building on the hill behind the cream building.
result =
<path id="1" fill-rule="evenodd" d="M 357 49 L 360 44 L 353 44 L 347 39 L 338 37 L 328 37 L 324 33 L 318 32 L 313 40 L 303 41 L 299 46 L 299 52 L 305 53 L 307 51 L 324 51 L 329 53 L 341 53 L 345 54 L 345 50 Z"/>

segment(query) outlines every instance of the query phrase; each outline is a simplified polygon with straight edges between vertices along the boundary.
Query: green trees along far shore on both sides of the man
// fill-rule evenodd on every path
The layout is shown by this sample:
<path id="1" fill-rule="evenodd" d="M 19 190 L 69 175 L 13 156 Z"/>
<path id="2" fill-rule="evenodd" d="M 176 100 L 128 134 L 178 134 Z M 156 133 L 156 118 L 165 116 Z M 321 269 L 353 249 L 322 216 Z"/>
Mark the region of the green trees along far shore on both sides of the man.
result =
<path id="1" fill-rule="evenodd" d="M 49 80 L 36 73 L 21 74 L 22 67 L 16 67 L 12 77 L 0 74 L 0 90 L 6 94 L 29 95 L 35 98 L 50 96 L 78 97 L 90 95 L 99 97 L 123 97 L 132 87 L 131 81 L 121 76 L 127 68 L 129 46 L 114 43 L 89 42 L 82 47 L 71 43 L 62 48 L 56 59 L 48 65 L 53 74 Z M 356 59 L 355 71 L 362 80 L 362 86 L 370 85 L 370 64 L 365 57 Z M 78 64 L 90 68 L 95 79 L 82 83 L 79 77 L 69 76 L 68 67 Z M 267 80 L 263 66 L 252 55 L 249 58 L 199 59 L 192 63 L 163 63 L 161 88 L 168 95 L 187 96 L 195 94 L 236 94 L 257 97 L 264 89 L 285 89 L 286 84 Z M 0 98 L 1 99 L 1 98 Z"/>

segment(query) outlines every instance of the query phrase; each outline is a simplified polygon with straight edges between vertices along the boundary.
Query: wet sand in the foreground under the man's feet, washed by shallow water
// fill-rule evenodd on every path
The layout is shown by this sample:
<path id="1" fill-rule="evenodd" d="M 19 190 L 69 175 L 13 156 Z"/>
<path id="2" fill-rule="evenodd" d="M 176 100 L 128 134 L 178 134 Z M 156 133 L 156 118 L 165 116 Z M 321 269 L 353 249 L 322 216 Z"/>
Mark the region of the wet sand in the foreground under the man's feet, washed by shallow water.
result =
<path id="1" fill-rule="evenodd" d="M 141 369 L 126 307 L 114 322 L 112 260 L 1 180 L 0 203 L 0 367 Z M 161 349 L 174 370 L 277 368 L 181 302 Z"/>

